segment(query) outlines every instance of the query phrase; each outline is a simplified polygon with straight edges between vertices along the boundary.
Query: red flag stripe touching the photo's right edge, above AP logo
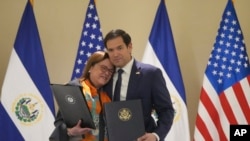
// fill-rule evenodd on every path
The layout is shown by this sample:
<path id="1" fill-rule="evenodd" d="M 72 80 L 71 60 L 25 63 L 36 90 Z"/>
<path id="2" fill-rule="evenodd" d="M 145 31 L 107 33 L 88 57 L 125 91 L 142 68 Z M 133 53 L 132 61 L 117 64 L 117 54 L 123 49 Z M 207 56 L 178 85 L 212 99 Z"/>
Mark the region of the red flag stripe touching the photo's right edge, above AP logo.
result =
<path id="1" fill-rule="evenodd" d="M 244 95 L 244 92 L 242 90 L 241 84 L 240 83 L 236 83 L 233 86 L 233 90 L 234 90 L 234 94 L 237 97 L 237 100 L 240 104 L 240 107 L 242 109 L 243 114 L 245 115 L 245 118 L 247 120 L 247 123 L 250 123 L 250 108 L 249 105 L 247 103 L 246 97 Z M 248 94 L 249 95 L 249 94 Z M 249 95 L 250 96 L 250 95 Z M 231 123 L 231 122 L 230 122 Z M 240 123 L 239 123 L 240 124 Z"/>

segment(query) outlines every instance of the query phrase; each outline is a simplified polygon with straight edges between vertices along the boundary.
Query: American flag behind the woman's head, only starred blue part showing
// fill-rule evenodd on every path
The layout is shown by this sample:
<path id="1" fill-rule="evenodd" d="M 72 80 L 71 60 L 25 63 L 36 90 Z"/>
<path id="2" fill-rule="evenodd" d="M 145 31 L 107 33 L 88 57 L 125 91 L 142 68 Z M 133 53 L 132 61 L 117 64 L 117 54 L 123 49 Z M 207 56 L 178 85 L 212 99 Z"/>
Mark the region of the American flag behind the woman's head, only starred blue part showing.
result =
<path id="1" fill-rule="evenodd" d="M 81 76 L 89 56 L 98 50 L 104 50 L 103 37 L 95 2 L 90 0 L 71 79 Z"/>

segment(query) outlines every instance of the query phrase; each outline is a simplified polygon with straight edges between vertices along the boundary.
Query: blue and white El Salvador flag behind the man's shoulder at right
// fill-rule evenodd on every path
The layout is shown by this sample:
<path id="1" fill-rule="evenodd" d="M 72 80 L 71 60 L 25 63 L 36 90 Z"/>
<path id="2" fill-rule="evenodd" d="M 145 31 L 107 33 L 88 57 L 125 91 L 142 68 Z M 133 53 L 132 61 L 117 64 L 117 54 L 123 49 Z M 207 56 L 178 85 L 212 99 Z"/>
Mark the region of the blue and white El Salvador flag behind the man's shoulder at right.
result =
<path id="1" fill-rule="evenodd" d="M 189 141 L 185 89 L 164 0 L 161 0 L 158 7 L 142 62 L 155 65 L 162 70 L 173 102 L 174 122 L 165 140 Z"/>

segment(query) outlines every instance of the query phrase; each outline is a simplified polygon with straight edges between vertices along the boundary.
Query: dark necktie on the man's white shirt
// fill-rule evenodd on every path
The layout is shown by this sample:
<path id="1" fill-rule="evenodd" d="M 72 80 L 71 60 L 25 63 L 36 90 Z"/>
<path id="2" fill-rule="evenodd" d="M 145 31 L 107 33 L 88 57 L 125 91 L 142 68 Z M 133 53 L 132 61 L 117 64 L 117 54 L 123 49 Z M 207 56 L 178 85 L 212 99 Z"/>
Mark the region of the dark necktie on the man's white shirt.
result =
<path id="1" fill-rule="evenodd" d="M 115 84 L 113 101 L 120 101 L 121 83 L 122 83 L 122 73 L 123 70 L 118 70 L 118 79 Z"/>

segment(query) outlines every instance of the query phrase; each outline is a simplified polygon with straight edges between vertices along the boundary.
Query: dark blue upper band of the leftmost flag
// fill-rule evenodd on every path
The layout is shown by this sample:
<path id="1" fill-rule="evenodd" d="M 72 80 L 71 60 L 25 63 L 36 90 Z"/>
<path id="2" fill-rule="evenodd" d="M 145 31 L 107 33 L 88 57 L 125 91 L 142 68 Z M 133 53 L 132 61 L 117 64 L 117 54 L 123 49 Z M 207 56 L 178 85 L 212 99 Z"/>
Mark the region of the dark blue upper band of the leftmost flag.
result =
<path id="1" fill-rule="evenodd" d="M 51 112 L 55 113 L 47 67 L 30 2 L 27 2 L 23 13 L 14 48 L 31 79 L 50 107 Z"/>

